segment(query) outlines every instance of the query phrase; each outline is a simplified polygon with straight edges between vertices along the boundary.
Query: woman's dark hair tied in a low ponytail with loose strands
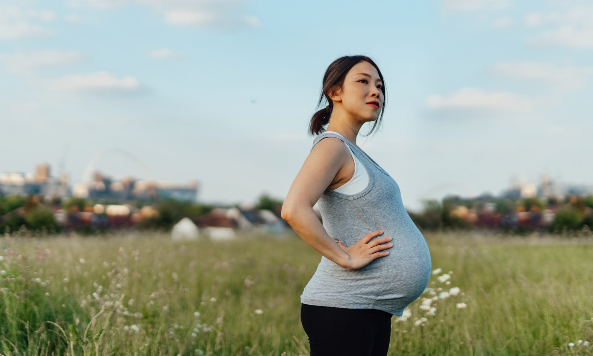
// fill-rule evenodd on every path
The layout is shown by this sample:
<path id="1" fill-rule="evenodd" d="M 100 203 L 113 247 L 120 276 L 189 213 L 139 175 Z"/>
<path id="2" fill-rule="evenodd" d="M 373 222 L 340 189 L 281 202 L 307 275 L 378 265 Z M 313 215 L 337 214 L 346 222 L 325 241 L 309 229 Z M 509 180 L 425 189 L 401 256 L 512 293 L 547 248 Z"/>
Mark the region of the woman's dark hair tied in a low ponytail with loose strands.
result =
<path id="1" fill-rule="evenodd" d="M 321 89 L 321 95 L 319 96 L 319 101 L 317 102 L 316 108 L 321 105 L 321 101 L 323 101 L 324 97 L 326 98 L 329 105 L 314 113 L 313 117 L 311 117 L 311 123 L 309 126 L 310 134 L 318 135 L 321 134 L 321 132 L 326 131 L 323 126 L 326 126 L 327 123 L 330 122 L 330 116 L 333 110 L 333 101 L 331 101 L 329 96 L 330 91 L 334 90 L 334 88 L 342 88 L 346 74 L 350 71 L 350 69 L 352 69 L 353 66 L 362 61 L 371 63 L 371 65 L 377 69 L 379 78 L 381 78 L 381 81 L 383 82 L 381 91 L 383 92 L 384 98 L 383 106 L 381 107 L 381 115 L 377 120 L 375 120 L 375 125 L 372 126 L 371 131 L 369 131 L 366 136 L 370 135 L 371 132 L 375 130 L 377 125 L 381 125 L 381 122 L 383 121 L 383 112 L 385 111 L 385 103 L 387 103 L 387 96 L 385 95 L 387 93 L 387 87 L 385 87 L 385 81 L 383 80 L 383 75 L 381 74 L 379 67 L 371 58 L 368 58 L 367 56 L 343 56 L 331 62 L 331 64 L 326 69 L 326 74 L 323 75 L 323 88 Z"/>

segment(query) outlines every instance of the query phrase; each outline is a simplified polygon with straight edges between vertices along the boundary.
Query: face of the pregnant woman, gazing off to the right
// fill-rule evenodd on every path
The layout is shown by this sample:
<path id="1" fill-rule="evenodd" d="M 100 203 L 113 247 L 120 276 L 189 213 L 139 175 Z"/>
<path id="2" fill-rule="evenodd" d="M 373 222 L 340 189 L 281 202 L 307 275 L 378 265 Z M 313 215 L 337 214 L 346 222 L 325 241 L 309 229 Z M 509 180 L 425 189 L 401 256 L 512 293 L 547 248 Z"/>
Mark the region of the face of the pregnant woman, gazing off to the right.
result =
<path id="1" fill-rule="evenodd" d="M 365 122 L 377 120 L 384 100 L 382 85 L 379 73 L 371 63 L 356 63 L 346 74 L 336 101 L 342 101 L 346 112 L 354 117 Z"/>

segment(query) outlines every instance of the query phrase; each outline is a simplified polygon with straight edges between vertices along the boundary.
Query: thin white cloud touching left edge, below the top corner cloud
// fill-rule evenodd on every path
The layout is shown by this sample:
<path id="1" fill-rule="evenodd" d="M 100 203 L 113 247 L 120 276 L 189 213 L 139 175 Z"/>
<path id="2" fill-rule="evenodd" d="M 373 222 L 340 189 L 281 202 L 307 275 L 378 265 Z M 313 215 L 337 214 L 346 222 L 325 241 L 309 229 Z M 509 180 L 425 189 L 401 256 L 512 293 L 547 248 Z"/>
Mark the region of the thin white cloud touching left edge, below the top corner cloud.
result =
<path id="1" fill-rule="evenodd" d="M 0 55 L 0 62 L 11 72 L 27 73 L 43 67 L 81 62 L 82 53 L 75 50 L 45 50 L 40 52 Z"/>

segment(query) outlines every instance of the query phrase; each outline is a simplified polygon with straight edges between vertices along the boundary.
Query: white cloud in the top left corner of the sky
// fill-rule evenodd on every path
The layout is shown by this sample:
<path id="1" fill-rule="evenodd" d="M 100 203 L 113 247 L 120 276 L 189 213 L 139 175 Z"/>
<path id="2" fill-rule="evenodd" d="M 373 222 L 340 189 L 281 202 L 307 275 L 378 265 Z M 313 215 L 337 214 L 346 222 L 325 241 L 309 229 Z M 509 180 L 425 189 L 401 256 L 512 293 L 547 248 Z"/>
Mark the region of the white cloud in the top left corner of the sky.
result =
<path id="1" fill-rule="evenodd" d="M 52 30 L 36 22 L 48 23 L 55 18 L 55 13 L 49 10 L 0 6 L 0 40 L 52 37 Z"/>

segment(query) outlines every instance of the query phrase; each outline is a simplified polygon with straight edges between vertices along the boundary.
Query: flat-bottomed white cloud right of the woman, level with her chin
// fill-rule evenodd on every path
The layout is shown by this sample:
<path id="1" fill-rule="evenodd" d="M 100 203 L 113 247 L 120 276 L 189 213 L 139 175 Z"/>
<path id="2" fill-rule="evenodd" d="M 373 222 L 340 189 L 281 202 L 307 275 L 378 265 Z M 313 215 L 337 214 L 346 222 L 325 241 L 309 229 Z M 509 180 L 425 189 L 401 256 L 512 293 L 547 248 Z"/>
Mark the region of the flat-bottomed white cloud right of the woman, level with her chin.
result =
<path id="1" fill-rule="evenodd" d="M 505 91 L 486 91 L 480 88 L 463 87 L 450 96 L 432 95 L 426 106 L 433 110 L 471 110 L 479 112 L 531 112 L 529 98 Z"/>

